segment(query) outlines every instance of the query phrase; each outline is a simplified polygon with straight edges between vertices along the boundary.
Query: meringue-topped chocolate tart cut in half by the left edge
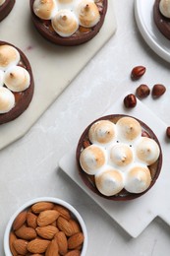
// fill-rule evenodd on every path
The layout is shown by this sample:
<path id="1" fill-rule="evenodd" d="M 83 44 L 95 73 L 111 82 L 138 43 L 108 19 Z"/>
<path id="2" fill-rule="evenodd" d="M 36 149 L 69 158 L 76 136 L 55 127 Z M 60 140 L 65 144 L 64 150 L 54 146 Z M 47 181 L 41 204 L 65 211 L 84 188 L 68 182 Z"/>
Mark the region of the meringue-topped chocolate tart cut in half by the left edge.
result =
<path id="1" fill-rule="evenodd" d="M 16 119 L 28 108 L 33 89 L 33 75 L 24 52 L 0 41 L 0 124 Z"/>

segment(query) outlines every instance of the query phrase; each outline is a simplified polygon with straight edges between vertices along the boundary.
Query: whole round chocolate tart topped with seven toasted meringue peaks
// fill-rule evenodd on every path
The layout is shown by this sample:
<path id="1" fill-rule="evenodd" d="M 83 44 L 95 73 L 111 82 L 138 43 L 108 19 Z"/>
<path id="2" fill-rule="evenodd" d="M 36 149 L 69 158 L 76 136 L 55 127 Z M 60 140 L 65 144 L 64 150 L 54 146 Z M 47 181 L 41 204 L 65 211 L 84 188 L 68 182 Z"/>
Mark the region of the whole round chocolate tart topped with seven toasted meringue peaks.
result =
<path id="1" fill-rule="evenodd" d="M 121 114 L 89 124 L 76 151 L 79 174 L 97 195 L 126 201 L 146 193 L 159 176 L 162 151 L 141 120 Z"/>

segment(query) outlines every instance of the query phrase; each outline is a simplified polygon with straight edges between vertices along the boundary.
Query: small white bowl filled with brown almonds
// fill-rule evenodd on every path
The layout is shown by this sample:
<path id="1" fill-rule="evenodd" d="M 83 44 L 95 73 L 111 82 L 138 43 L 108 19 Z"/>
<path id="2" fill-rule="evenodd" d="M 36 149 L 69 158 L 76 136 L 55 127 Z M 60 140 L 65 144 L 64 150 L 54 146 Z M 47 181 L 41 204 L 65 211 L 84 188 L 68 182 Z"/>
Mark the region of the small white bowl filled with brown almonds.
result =
<path id="1" fill-rule="evenodd" d="M 78 211 L 51 197 L 36 198 L 10 219 L 4 235 L 7 256 L 85 256 L 87 233 Z"/>

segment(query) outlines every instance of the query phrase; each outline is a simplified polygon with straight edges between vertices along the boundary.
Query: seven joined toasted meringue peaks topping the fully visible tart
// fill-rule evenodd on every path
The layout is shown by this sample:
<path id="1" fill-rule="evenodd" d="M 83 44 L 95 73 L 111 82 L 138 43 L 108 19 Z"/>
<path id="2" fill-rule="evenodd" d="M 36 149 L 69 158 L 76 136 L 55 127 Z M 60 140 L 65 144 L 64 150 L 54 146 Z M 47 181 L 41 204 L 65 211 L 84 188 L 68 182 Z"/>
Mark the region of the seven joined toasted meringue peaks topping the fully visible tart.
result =
<path id="1" fill-rule="evenodd" d="M 82 149 L 80 164 L 87 174 L 94 175 L 101 194 L 116 195 L 122 186 L 130 193 L 148 188 L 149 165 L 158 160 L 160 148 L 155 140 L 142 137 L 137 119 L 123 116 L 115 123 L 111 119 L 97 120 L 87 135 L 91 145 Z"/>

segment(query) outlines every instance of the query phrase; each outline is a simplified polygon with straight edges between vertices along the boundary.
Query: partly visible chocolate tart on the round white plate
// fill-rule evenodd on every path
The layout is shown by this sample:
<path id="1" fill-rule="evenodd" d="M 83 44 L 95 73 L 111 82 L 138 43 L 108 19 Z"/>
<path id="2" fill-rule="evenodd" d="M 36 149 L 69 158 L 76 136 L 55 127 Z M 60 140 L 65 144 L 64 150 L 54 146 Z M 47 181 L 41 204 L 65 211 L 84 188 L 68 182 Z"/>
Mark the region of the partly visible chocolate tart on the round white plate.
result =
<path id="1" fill-rule="evenodd" d="M 154 23 L 167 39 L 170 39 L 170 1 L 155 0 L 153 5 Z"/>

